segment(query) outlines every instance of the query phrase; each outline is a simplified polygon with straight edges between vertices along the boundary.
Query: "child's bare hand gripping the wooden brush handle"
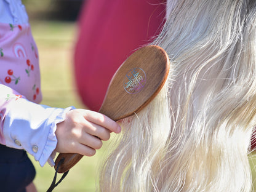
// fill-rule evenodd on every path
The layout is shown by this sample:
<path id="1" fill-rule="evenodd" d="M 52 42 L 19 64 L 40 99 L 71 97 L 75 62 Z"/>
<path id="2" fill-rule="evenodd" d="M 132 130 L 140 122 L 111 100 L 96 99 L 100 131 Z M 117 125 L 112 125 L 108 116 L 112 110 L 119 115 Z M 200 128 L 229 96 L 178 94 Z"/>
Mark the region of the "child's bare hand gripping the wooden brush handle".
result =
<path id="1" fill-rule="evenodd" d="M 93 156 L 95 150 L 102 147 L 102 140 L 110 138 L 111 132 L 118 134 L 121 127 L 105 115 L 89 110 L 71 110 L 65 121 L 57 124 L 56 151 Z"/>

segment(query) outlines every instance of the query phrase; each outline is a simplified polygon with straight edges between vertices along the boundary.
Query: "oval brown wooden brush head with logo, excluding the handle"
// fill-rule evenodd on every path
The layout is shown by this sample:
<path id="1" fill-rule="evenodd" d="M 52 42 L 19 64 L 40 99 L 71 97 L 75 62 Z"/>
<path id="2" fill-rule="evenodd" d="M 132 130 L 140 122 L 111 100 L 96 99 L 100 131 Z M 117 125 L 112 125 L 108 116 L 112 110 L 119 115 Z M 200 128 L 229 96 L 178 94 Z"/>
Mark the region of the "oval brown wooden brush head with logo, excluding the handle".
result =
<path id="1" fill-rule="evenodd" d="M 161 90 L 169 73 L 169 57 L 159 46 L 145 46 L 118 68 L 100 113 L 114 121 L 142 110 Z"/>

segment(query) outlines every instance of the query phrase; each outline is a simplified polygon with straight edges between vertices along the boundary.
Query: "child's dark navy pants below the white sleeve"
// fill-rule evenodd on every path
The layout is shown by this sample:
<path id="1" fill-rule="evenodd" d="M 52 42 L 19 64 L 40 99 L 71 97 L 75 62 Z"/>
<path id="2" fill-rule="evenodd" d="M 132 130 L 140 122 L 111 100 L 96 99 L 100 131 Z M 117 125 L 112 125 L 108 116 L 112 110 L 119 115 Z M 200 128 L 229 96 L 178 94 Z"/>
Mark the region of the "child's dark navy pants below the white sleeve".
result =
<path id="1" fill-rule="evenodd" d="M 0 191 L 25 192 L 35 175 L 36 170 L 26 151 L 0 144 Z"/>

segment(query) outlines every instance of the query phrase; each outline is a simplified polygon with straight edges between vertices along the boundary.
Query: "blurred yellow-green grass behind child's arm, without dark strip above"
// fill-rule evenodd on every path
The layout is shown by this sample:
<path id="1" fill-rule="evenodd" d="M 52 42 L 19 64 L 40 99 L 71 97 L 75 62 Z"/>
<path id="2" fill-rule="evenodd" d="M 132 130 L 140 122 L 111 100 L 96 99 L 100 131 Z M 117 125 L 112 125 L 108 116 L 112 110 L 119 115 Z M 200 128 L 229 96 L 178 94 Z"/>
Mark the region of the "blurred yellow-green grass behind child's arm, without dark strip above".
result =
<path id="1" fill-rule="evenodd" d="M 60 108 L 71 105 L 86 108 L 79 100 L 74 86 L 76 23 L 32 21 L 31 30 L 39 50 L 42 104 Z M 34 183 L 39 192 L 46 191 L 54 178 L 54 167 L 50 167 L 48 163 L 40 167 L 32 156 L 30 159 L 37 172 Z M 95 191 L 98 159 L 100 152 L 93 157 L 82 158 L 54 191 Z M 58 178 L 60 176 L 58 174 Z"/>

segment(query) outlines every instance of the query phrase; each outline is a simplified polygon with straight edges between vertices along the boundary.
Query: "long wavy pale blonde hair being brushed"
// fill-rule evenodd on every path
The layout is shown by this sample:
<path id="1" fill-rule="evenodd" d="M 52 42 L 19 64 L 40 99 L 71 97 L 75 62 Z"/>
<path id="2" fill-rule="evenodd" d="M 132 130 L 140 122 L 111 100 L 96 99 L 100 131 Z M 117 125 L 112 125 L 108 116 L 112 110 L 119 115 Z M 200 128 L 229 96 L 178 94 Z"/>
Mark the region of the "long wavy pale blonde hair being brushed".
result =
<path id="1" fill-rule="evenodd" d="M 250 191 L 256 114 L 256 2 L 180 0 L 153 42 L 166 85 L 122 122 L 99 191 Z"/>

